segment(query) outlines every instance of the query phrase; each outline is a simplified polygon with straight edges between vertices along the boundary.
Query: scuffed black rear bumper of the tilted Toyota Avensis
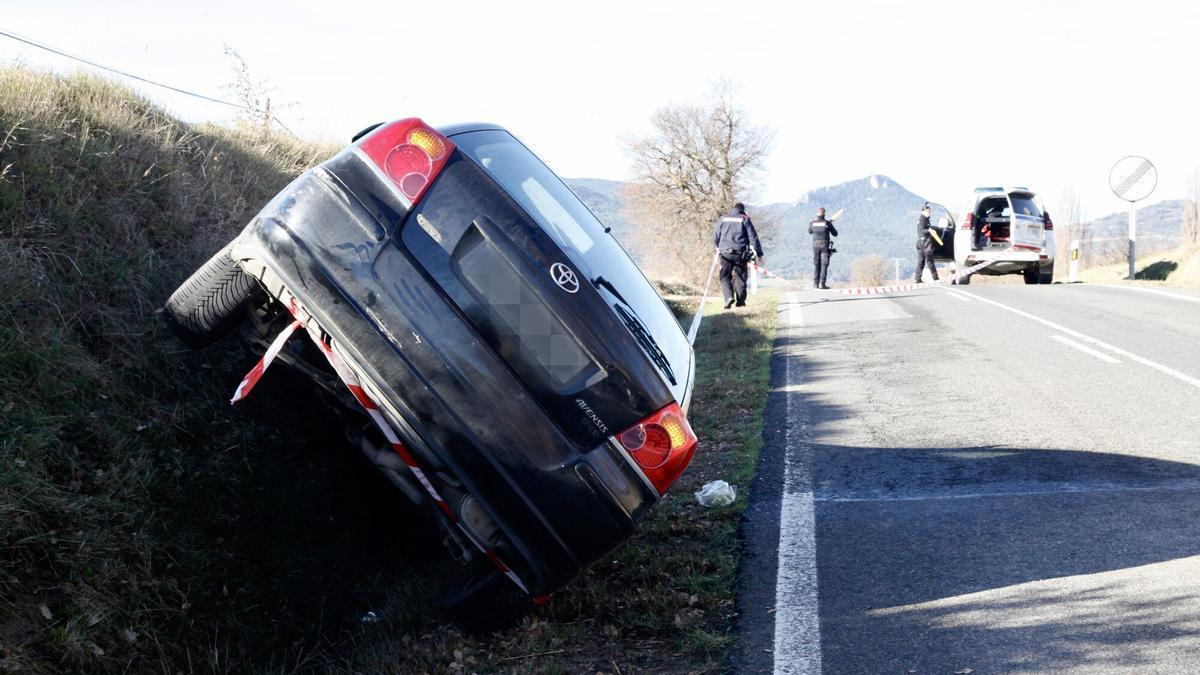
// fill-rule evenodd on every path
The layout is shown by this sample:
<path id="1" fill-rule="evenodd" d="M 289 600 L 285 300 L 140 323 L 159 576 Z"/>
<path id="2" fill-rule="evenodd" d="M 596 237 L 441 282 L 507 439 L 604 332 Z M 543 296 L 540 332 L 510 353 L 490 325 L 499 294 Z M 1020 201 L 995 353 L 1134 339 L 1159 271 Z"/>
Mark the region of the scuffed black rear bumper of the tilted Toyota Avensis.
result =
<path id="1" fill-rule="evenodd" d="M 658 492 L 616 443 L 581 447 L 556 426 L 395 245 L 382 223 L 398 222 L 396 208 L 313 169 L 233 253 L 313 313 L 426 473 L 479 500 L 530 593 L 554 591 L 626 539 Z"/>

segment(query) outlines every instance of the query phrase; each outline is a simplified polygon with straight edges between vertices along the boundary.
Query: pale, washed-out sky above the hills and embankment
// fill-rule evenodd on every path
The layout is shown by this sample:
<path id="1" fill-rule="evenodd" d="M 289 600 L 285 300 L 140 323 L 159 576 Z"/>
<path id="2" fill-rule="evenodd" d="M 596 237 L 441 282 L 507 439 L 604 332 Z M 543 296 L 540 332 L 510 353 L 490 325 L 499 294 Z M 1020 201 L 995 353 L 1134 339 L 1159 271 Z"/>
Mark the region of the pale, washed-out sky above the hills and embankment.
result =
<path id="1" fill-rule="evenodd" d="M 1157 165 L 1146 203 L 1182 197 L 1200 166 L 1200 4 L 781 5 L 0 0 L 0 29 L 218 97 L 229 44 L 301 136 L 494 121 L 571 178 L 629 178 L 623 139 L 727 77 L 776 132 L 754 202 L 880 173 L 954 208 L 977 185 L 1024 184 L 1052 211 L 1069 184 L 1099 216 L 1123 208 L 1108 185 L 1120 157 Z M 0 37 L 13 60 L 76 67 Z M 134 86 L 185 119 L 228 119 Z"/>

